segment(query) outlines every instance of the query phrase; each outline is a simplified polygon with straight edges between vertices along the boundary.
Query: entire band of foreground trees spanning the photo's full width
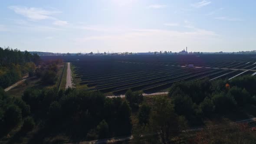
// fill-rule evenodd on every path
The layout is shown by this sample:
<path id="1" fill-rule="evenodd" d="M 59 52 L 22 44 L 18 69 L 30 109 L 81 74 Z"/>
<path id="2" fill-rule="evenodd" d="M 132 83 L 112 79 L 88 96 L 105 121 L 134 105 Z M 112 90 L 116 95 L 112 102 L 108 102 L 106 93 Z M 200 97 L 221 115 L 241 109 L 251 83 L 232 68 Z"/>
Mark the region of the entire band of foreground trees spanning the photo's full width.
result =
<path id="1" fill-rule="evenodd" d="M 150 102 L 141 92 L 131 90 L 126 92 L 125 99 L 106 98 L 100 92 L 75 88 L 65 91 L 30 88 L 19 99 L 1 90 L 0 134 L 5 137 L 21 125 L 20 131 L 24 133 L 33 127 L 41 130 L 30 143 L 43 143 L 47 137 L 61 134 L 69 137 L 68 142 L 132 134 L 132 143 L 166 144 L 174 141 L 173 138 L 179 137 L 189 126 L 201 125 L 206 119 L 220 118 L 247 107 L 251 111 L 246 109 L 246 112 L 253 114 L 255 83 L 256 78 L 250 75 L 230 81 L 178 82 L 172 85 L 169 95 L 155 96 Z M 189 139 L 191 143 L 200 144 L 209 140 L 218 143 L 214 141 L 218 137 L 222 138 L 222 143 L 235 142 L 232 137 L 236 136 L 244 136 L 244 140 L 249 142 L 255 138 L 243 125 L 226 126 L 221 131 L 218 127 L 207 126 Z M 222 136 L 227 131 L 230 134 Z M 250 137 L 245 137 L 244 131 Z"/>

